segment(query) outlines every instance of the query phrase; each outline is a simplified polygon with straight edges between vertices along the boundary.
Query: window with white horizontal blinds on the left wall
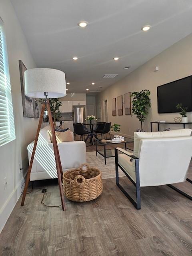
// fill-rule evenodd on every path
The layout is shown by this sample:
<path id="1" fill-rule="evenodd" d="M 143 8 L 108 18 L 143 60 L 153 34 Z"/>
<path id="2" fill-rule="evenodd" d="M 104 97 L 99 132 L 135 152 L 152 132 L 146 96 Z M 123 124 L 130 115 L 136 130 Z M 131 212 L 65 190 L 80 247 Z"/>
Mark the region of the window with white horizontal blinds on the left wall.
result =
<path id="1" fill-rule="evenodd" d="M 0 19 L 0 146 L 15 139 L 6 38 Z"/>

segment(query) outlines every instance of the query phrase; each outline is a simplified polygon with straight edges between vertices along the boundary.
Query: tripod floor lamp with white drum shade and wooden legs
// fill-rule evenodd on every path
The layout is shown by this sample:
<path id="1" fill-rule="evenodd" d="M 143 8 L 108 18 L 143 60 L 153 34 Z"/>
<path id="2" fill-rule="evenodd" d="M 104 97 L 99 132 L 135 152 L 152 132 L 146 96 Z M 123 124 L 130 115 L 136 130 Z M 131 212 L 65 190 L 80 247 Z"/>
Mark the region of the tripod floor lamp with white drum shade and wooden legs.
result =
<path id="1" fill-rule="evenodd" d="M 21 206 L 23 206 L 25 202 L 26 192 L 27 192 L 27 188 L 30 180 L 31 168 L 32 168 L 36 146 L 38 142 L 38 136 L 39 136 L 42 120 L 43 120 L 44 110 L 46 107 L 48 110 L 49 124 L 52 132 L 53 148 L 54 148 L 62 209 L 65 210 L 64 195 L 62 190 L 63 171 L 62 171 L 56 136 L 55 136 L 54 124 L 52 121 L 50 104 L 48 100 L 48 98 L 60 98 L 60 97 L 66 96 L 65 73 L 60 70 L 51 69 L 51 68 L 33 68 L 33 69 L 26 70 L 24 72 L 24 78 L 25 78 L 26 96 L 32 97 L 32 98 L 44 98 L 45 100 L 44 100 L 44 103 L 42 104 L 42 110 L 40 114 L 40 119 L 39 119 L 36 137 L 35 137 L 30 165 L 28 168 Z"/>

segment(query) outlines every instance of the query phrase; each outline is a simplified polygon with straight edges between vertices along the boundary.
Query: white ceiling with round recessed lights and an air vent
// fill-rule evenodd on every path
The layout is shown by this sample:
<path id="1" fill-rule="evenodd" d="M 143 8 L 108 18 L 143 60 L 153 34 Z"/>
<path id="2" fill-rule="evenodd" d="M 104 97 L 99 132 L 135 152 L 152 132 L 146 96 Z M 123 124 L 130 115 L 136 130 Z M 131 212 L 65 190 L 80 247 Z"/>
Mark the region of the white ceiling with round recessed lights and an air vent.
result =
<path id="1" fill-rule="evenodd" d="M 104 90 L 192 32 L 192 0 L 11 1 L 37 66 L 64 71 L 68 92 Z"/>

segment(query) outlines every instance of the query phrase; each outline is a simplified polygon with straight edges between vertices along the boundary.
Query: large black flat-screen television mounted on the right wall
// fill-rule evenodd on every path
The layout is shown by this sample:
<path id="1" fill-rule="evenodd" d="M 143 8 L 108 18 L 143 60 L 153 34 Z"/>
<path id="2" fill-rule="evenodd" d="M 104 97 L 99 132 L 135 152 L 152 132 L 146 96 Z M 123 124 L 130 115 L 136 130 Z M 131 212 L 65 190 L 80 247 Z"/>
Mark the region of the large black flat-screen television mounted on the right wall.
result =
<path id="1" fill-rule="evenodd" d="M 180 112 L 178 103 L 192 111 L 192 76 L 157 87 L 158 113 Z"/>

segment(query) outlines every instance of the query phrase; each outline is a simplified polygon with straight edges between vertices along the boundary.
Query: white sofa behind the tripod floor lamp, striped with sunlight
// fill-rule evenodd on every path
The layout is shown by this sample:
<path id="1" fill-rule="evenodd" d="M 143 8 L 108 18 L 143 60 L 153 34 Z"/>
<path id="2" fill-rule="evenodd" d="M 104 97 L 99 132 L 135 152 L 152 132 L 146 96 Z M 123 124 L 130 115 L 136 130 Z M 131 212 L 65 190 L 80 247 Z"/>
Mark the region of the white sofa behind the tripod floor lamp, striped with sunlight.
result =
<path id="1" fill-rule="evenodd" d="M 45 180 L 57 178 L 53 144 L 50 140 L 50 126 L 40 130 L 36 153 L 30 174 L 30 180 Z M 72 132 L 73 134 L 73 132 Z M 34 141 L 28 145 L 29 162 L 33 150 Z M 63 172 L 79 167 L 86 163 L 86 144 L 84 141 L 70 141 L 58 143 Z"/>

